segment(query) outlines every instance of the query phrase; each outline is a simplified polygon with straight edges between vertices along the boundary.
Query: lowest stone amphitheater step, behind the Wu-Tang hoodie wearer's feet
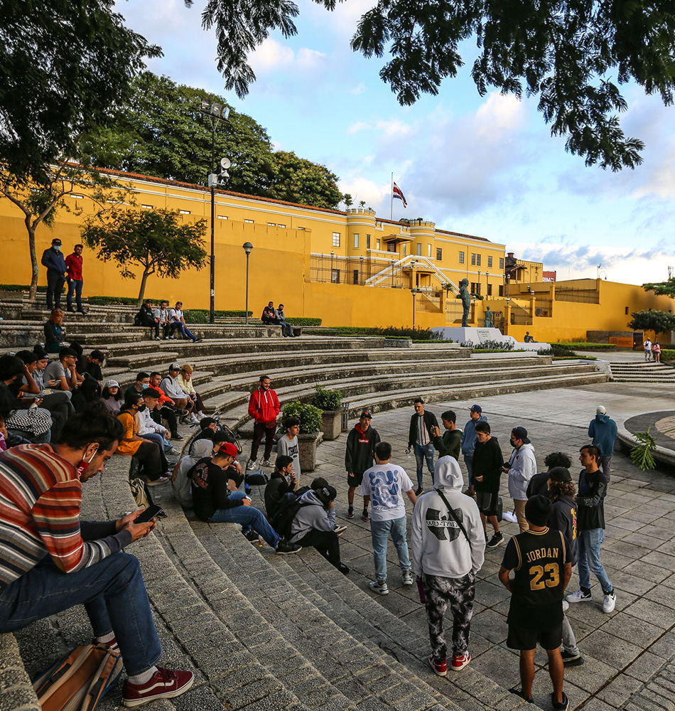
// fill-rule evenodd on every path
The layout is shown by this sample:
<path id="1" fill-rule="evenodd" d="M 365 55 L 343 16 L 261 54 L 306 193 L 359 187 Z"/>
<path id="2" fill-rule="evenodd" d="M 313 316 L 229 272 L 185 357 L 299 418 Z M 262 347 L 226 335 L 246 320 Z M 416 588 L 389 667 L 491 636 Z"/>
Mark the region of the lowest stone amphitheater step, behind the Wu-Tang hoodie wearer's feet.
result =
<path id="1" fill-rule="evenodd" d="M 482 705 L 488 708 L 524 707 L 524 700 L 478 671 L 475 661 L 460 673 L 448 670 L 450 684 L 448 680 L 432 674 L 427 662 L 429 638 L 426 626 L 423 630 L 413 629 L 404 619 L 387 609 L 386 604 L 392 596 L 383 599 L 380 604 L 372 594 L 342 577 L 332 566 L 325 565 L 323 557 L 315 550 L 303 550 L 301 555 L 281 560 L 275 558 L 270 562 L 298 592 L 325 611 L 342 629 L 367 646 L 387 651 L 411 674 L 423 677 L 428 685 L 462 709 L 476 709 Z M 448 638 L 451 624 L 448 621 Z M 477 648 L 490 648 L 490 642 L 479 638 L 475 631 L 472 640 L 470 647 L 474 653 Z"/>

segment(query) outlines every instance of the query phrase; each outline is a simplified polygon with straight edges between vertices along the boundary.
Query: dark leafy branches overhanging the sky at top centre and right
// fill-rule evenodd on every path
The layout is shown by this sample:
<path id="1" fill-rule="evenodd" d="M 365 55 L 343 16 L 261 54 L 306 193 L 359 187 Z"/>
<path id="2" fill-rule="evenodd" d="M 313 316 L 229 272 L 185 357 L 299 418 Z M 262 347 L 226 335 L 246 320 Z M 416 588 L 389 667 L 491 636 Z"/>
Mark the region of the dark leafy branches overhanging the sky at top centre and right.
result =
<path id="1" fill-rule="evenodd" d="M 191 6 L 193 0 L 184 0 Z M 336 0 L 315 0 L 328 10 Z M 255 80 L 247 55 L 270 31 L 296 34 L 292 0 L 207 0 L 202 26 L 215 28 L 225 87 L 244 97 Z M 626 137 L 619 85 L 635 81 L 673 102 L 675 4 L 672 0 L 377 0 L 357 23 L 351 46 L 365 57 L 389 55 L 380 77 L 401 105 L 438 94 L 463 66 L 461 42 L 480 53 L 472 77 L 481 95 L 539 98 L 551 134 L 566 150 L 618 171 L 642 162 L 644 144 Z"/>

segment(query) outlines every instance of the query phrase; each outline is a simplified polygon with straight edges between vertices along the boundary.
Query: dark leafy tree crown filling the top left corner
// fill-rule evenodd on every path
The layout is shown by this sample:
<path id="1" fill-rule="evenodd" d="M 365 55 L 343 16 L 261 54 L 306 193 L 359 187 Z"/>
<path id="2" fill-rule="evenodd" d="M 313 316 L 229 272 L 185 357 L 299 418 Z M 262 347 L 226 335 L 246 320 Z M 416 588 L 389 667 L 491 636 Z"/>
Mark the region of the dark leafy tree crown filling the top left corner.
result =
<path id="1" fill-rule="evenodd" d="M 48 181 L 82 132 L 109 121 L 146 57 L 160 55 L 114 13 L 114 0 L 0 4 L 0 161 Z"/>

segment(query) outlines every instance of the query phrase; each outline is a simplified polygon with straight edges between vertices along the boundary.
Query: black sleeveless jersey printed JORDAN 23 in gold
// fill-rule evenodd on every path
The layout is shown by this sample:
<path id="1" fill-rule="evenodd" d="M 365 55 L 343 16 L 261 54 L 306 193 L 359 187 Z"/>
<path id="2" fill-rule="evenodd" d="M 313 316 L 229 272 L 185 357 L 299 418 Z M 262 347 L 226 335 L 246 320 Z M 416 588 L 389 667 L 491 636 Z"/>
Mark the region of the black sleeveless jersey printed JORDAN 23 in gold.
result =
<path id="1" fill-rule="evenodd" d="M 563 620 L 563 584 L 569 551 L 560 531 L 525 531 L 509 540 L 502 566 L 512 581 L 509 624 L 523 629 L 552 629 Z"/>

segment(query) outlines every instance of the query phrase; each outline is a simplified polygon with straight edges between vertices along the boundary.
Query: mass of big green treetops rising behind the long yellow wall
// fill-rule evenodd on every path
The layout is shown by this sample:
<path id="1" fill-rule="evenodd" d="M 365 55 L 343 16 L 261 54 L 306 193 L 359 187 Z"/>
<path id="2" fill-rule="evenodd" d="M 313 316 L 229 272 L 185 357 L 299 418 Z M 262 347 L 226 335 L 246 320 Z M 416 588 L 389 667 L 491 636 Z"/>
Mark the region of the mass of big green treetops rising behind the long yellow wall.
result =
<path id="1" fill-rule="evenodd" d="M 85 161 L 102 168 L 205 185 L 211 171 L 212 133 L 200 102 L 227 105 L 220 96 L 144 72 L 116 112 L 112 127 L 92 132 Z M 332 208 L 340 202 L 338 178 L 293 153 L 272 151 L 266 130 L 230 110 L 215 132 L 216 163 L 232 161 L 226 188 L 267 198 Z"/>

